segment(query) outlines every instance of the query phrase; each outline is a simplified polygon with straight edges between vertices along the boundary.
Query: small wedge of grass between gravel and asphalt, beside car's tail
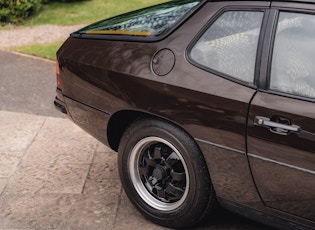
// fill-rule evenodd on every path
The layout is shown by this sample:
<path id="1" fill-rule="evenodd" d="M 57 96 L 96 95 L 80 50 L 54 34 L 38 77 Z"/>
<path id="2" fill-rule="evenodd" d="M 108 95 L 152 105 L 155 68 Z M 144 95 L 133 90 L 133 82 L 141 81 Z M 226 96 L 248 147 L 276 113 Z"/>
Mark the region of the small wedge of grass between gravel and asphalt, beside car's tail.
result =
<path id="1" fill-rule="evenodd" d="M 62 42 L 55 42 L 50 44 L 30 44 L 25 46 L 13 47 L 11 48 L 11 50 L 19 53 L 55 60 L 56 52 L 61 44 Z"/>

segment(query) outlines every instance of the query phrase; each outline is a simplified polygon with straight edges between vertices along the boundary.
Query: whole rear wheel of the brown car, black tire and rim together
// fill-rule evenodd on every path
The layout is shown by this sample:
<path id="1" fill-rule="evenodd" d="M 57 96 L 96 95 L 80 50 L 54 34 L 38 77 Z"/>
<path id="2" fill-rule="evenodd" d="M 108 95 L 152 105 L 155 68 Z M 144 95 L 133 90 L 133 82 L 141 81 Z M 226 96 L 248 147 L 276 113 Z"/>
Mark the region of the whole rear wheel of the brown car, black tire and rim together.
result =
<path id="1" fill-rule="evenodd" d="M 158 119 L 134 122 L 119 145 L 123 188 L 151 221 L 187 228 L 217 205 L 208 169 L 195 141 L 183 130 Z"/>

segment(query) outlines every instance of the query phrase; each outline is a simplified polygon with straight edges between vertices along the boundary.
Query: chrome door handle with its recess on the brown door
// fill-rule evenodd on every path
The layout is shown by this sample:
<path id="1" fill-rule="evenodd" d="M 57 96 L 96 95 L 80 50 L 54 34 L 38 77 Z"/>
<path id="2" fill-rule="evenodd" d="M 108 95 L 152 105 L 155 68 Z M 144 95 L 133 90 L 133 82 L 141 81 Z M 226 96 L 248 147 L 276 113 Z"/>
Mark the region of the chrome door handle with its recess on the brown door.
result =
<path id="1" fill-rule="evenodd" d="M 269 118 L 256 116 L 254 125 L 269 128 L 273 133 L 287 135 L 289 132 L 300 132 L 301 128 L 297 125 L 282 124 L 276 121 L 271 121 Z"/>

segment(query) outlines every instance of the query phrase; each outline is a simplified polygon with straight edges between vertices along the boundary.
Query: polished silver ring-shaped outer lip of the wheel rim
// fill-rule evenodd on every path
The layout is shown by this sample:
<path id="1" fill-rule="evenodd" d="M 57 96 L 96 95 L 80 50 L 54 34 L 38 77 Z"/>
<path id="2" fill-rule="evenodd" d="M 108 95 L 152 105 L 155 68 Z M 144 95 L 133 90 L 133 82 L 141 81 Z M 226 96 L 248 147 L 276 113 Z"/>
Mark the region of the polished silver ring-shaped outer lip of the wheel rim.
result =
<path id="1" fill-rule="evenodd" d="M 186 188 L 183 196 L 180 198 L 180 200 L 173 202 L 173 203 L 166 203 L 158 200 L 155 198 L 145 187 L 143 184 L 140 173 L 139 173 L 139 159 L 142 155 L 142 152 L 144 149 L 146 149 L 148 146 L 156 143 L 163 143 L 170 147 L 176 155 L 180 158 L 180 161 L 184 167 L 185 175 L 186 175 Z M 133 147 L 131 150 L 131 154 L 128 159 L 128 171 L 130 174 L 131 181 L 133 183 L 133 187 L 136 189 L 139 196 L 142 198 L 142 200 L 147 203 L 152 208 L 155 208 L 160 211 L 172 211 L 180 207 L 186 200 L 188 191 L 189 191 L 189 174 L 186 162 L 180 152 L 175 148 L 173 144 L 168 142 L 165 139 L 162 139 L 160 137 L 145 137 L 141 139 L 137 144 Z"/>

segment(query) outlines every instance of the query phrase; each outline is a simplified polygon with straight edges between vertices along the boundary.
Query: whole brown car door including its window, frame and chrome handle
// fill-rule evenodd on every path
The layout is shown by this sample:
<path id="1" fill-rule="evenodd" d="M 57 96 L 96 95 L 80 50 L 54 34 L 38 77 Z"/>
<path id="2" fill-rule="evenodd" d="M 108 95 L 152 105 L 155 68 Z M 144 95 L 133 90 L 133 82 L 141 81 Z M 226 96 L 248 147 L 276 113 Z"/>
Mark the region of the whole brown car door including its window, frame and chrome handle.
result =
<path id="1" fill-rule="evenodd" d="M 290 10 L 291 7 L 300 10 Z M 271 52 L 266 52 L 266 74 L 261 76 L 266 79 L 261 80 L 261 90 L 250 106 L 247 151 L 264 204 L 315 221 L 312 8 L 313 5 L 285 3 L 272 6 L 275 24 L 270 30 Z"/>

